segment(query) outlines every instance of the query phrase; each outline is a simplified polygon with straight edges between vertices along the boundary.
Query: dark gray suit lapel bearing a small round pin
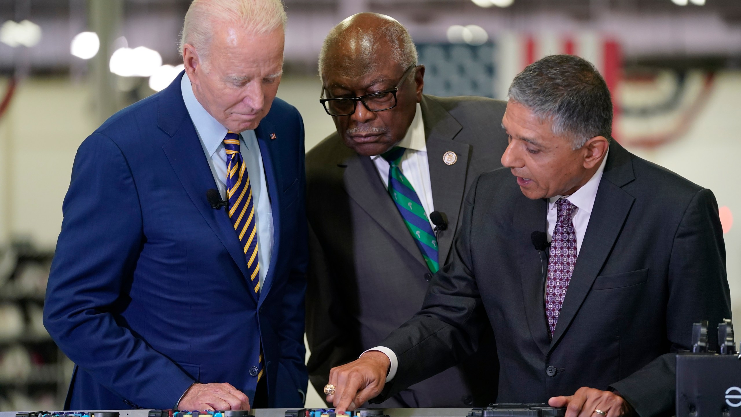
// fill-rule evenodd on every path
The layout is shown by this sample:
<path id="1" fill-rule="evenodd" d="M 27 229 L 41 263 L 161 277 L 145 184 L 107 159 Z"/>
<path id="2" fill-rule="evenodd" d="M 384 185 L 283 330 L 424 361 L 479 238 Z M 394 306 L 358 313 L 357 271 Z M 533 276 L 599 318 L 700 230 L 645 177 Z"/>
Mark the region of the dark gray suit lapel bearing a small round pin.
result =
<path id="1" fill-rule="evenodd" d="M 436 211 L 448 217 L 448 229 L 440 232 L 438 239 L 439 262 L 442 266 L 448 259 L 458 226 L 471 145 L 453 140 L 461 131 L 461 125 L 441 105 L 426 96 L 422 96 L 422 119 L 425 123 L 433 204 Z M 456 154 L 457 160 L 453 165 L 442 160 L 447 152 Z"/>

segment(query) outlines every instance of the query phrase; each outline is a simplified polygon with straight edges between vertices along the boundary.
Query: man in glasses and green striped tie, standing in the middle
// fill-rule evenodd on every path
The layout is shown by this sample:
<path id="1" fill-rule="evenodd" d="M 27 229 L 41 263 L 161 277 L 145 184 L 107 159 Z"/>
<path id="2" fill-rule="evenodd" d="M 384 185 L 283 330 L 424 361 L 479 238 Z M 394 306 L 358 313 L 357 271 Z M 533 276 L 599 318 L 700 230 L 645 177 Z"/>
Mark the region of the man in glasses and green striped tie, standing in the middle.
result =
<path id="1" fill-rule="evenodd" d="M 375 347 L 422 307 L 432 274 L 451 253 L 465 190 L 501 166 L 507 147 L 505 102 L 425 96 L 425 68 L 416 58 L 405 28 L 374 13 L 340 23 L 322 49 L 322 104 L 337 132 L 307 155 L 308 370 L 320 393 L 330 368 Z M 437 232 L 433 211 L 447 217 Z M 496 354 L 488 337 L 482 354 L 382 407 L 494 401 Z"/>

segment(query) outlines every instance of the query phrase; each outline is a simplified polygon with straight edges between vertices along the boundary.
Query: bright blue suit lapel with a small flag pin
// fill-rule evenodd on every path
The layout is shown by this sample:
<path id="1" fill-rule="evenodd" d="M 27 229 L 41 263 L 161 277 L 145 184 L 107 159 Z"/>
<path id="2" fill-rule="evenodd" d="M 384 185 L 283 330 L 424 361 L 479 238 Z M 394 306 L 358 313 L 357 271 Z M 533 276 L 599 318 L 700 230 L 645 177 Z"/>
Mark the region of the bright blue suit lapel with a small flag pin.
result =
<path id="1" fill-rule="evenodd" d="M 265 300 L 265 296 L 270 291 L 270 286 L 273 283 L 273 278 L 276 273 L 276 261 L 278 260 L 278 251 L 280 248 L 281 240 L 281 213 L 280 208 L 280 197 L 282 194 L 282 188 L 279 186 L 280 182 L 278 179 L 278 170 L 276 169 L 276 160 L 274 158 L 275 152 L 273 152 L 273 140 L 270 139 L 270 134 L 274 133 L 273 125 L 269 122 L 262 120 L 258 127 L 255 129 L 255 136 L 257 142 L 260 145 L 260 157 L 262 157 L 262 167 L 265 168 L 265 184 L 268 185 L 268 195 L 270 195 L 270 209 L 273 211 L 273 248 L 270 256 L 270 267 L 268 268 L 268 275 L 265 275 L 265 282 L 262 283 L 262 289 L 260 290 L 260 301 Z"/>

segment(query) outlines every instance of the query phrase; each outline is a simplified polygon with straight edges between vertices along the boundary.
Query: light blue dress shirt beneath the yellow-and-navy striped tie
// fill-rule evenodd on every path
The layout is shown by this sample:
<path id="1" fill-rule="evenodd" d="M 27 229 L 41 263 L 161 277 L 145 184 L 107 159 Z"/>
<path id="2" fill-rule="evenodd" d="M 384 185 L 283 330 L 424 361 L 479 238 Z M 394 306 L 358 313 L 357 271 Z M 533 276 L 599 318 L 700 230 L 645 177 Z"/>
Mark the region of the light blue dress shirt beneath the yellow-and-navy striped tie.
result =
<path id="1" fill-rule="evenodd" d="M 213 174 L 213 179 L 216 180 L 216 186 L 219 187 L 219 194 L 221 194 L 222 200 L 227 200 L 227 152 L 224 148 L 224 137 L 228 129 L 214 119 L 196 99 L 187 73 L 183 74 L 180 88 L 182 89 L 185 108 L 190 114 L 190 119 L 193 120 L 193 125 L 196 126 L 196 133 L 198 138 L 201 139 L 201 145 L 211 168 L 211 174 Z M 270 255 L 273 252 L 273 209 L 270 207 L 268 184 L 265 182 L 265 168 L 262 167 L 262 155 L 260 154 L 255 131 L 243 131 L 239 136 L 239 151 L 242 154 L 242 159 L 245 160 L 247 173 L 250 175 L 250 186 L 252 187 L 252 198 L 255 206 L 257 256 L 260 262 L 259 275 L 260 288 L 262 289 L 265 277 L 268 276 Z"/>

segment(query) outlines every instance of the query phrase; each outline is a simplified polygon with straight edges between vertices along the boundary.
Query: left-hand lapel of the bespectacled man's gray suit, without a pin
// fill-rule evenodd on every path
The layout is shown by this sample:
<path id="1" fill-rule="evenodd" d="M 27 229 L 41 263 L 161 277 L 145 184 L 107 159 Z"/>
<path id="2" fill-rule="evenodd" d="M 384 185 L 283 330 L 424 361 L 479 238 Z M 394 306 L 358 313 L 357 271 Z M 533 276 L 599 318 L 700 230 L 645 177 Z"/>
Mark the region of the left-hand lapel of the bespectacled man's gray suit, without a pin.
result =
<path id="1" fill-rule="evenodd" d="M 412 235 L 399 214 L 399 209 L 396 209 L 391 196 L 388 195 L 371 158 L 355 154 L 345 161 L 345 165 L 347 168 L 345 168 L 344 180 L 348 195 L 426 268 L 427 263 L 422 253 L 414 243 Z"/>

